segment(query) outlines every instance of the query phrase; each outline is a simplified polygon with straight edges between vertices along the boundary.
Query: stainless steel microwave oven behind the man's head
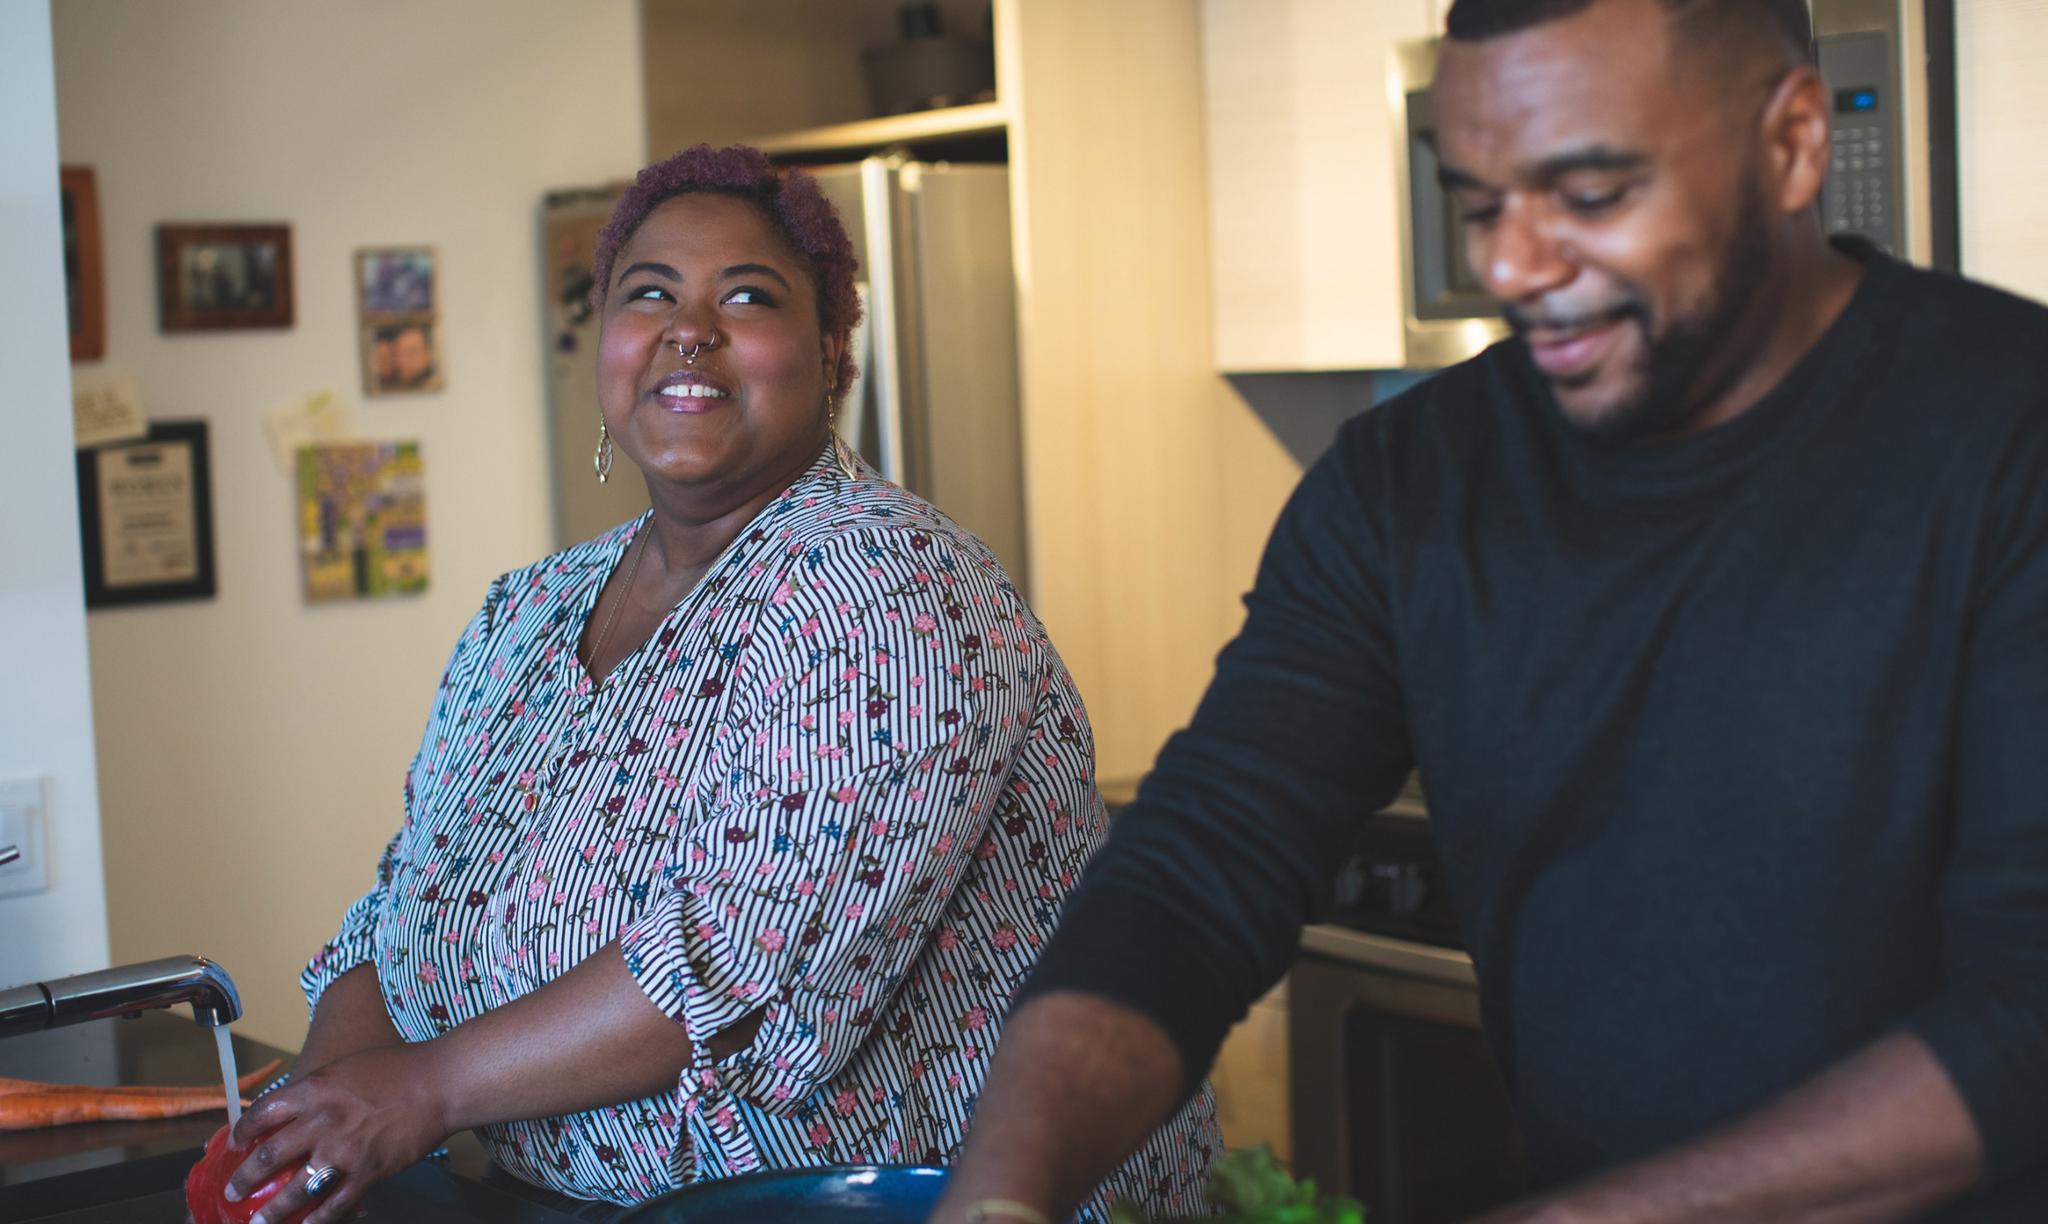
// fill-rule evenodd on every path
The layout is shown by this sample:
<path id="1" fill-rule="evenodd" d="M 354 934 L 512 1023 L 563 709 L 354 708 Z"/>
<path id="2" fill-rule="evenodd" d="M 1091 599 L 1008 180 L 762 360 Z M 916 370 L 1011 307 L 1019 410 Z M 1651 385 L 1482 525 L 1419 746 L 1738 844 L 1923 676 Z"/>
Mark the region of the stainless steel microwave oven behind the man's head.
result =
<path id="1" fill-rule="evenodd" d="M 1954 0 L 1812 0 L 1812 29 L 1833 104 L 1823 225 L 1954 270 Z M 1436 39 L 1397 43 L 1386 82 L 1409 368 L 1460 362 L 1507 332 L 1499 305 L 1466 266 L 1464 227 L 1438 182 L 1436 49 Z"/>

